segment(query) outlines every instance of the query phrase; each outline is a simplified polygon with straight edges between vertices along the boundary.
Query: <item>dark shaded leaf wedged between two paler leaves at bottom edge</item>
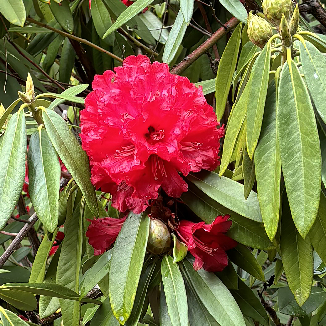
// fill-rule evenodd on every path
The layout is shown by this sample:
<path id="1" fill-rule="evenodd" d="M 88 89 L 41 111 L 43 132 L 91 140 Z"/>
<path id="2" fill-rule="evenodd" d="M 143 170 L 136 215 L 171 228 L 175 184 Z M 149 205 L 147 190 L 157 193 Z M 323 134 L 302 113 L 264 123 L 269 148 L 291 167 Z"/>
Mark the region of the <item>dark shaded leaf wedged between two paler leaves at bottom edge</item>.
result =
<path id="1" fill-rule="evenodd" d="M 184 281 L 188 301 L 189 325 L 219 326 L 217 321 L 212 317 L 212 315 L 200 301 L 194 292 L 194 289 L 190 286 L 186 279 Z"/>

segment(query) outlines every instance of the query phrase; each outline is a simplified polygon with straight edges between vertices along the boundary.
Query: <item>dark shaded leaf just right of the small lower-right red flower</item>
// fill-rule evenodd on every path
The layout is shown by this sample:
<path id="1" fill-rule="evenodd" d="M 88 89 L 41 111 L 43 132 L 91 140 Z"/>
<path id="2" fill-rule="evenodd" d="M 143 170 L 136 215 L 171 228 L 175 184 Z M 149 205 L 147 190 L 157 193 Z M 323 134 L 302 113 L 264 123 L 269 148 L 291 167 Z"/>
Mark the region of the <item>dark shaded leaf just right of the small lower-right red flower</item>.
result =
<path id="1" fill-rule="evenodd" d="M 250 275 L 262 282 L 266 281 L 259 262 L 252 252 L 243 244 L 238 244 L 235 248 L 229 250 L 228 257 L 234 264 L 248 272 Z"/>

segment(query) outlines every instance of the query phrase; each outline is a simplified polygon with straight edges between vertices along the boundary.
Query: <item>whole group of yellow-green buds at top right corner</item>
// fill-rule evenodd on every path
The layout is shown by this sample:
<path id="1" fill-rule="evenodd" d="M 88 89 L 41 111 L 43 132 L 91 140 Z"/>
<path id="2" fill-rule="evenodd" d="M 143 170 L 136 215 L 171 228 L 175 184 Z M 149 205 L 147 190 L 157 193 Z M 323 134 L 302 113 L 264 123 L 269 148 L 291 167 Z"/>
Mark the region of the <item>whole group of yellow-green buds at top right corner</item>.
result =
<path id="1" fill-rule="evenodd" d="M 251 42 L 263 48 L 272 37 L 274 27 L 282 44 L 290 47 L 299 25 L 298 4 L 294 8 L 291 0 L 263 0 L 262 7 L 264 14 L 248 15 L 247 34 Z"/>

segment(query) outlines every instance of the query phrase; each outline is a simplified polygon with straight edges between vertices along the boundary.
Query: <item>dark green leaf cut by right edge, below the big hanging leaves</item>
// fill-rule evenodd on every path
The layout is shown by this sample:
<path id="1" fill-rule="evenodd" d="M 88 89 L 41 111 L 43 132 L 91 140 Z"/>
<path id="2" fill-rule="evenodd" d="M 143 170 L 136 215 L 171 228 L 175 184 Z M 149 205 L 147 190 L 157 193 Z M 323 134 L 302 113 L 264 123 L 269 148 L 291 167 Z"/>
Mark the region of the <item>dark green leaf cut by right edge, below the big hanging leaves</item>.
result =
<path id="1" fill-rule="evenodd" d="M 322 192 L 318 214 L 308 236 L 319 257 L 326 262 L 326 198 Z"/>

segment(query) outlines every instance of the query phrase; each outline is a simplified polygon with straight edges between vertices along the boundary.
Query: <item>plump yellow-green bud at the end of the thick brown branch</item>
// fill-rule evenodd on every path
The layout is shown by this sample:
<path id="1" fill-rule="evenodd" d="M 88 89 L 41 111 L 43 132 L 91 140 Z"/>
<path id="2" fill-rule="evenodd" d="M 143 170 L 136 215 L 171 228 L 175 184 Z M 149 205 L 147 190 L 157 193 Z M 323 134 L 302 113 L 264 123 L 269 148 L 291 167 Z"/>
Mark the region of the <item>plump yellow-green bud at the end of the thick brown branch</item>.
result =
<path id="1" fill-rule="evenodd" d="M 249 12 L 247 34 L 252 43 L 263 48 L 273 35 L 273 30 L 271 25 L 264 18 Z"/>

